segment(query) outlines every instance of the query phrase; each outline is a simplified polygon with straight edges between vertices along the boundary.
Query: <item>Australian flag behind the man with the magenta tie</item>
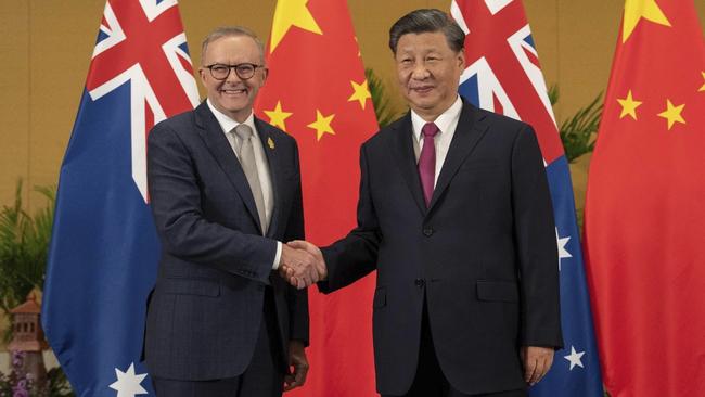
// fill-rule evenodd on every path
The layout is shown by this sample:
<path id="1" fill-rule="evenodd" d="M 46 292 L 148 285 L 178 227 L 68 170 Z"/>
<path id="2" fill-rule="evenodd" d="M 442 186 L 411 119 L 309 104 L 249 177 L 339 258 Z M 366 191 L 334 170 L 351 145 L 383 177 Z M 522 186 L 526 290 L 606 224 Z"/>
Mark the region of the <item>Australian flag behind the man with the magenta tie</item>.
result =
<path id="1" fill-rule="evenodd" d="M 460 93 L 476 106 L 530 124 L 538 136 L 553 200 L 556 266 L 565 347 L 529 389 L 534 397 L 603 396 L 568 163 L 557 133 L 538 53 L 521 0 L 454 0 L 465 31 Z"/>

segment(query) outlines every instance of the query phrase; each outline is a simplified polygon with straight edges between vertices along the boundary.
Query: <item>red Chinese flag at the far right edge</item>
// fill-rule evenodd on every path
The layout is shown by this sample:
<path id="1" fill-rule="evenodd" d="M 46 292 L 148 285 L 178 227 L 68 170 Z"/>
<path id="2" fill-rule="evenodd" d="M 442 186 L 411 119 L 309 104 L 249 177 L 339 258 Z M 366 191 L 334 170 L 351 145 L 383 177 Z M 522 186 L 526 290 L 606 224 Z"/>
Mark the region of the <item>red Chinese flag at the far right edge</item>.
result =
<path id="1" fill-rule="evenodd" d="M 612 397 L 703 396 L 705 44 L 693 1 L 626 1 L 585 217 Z"/>

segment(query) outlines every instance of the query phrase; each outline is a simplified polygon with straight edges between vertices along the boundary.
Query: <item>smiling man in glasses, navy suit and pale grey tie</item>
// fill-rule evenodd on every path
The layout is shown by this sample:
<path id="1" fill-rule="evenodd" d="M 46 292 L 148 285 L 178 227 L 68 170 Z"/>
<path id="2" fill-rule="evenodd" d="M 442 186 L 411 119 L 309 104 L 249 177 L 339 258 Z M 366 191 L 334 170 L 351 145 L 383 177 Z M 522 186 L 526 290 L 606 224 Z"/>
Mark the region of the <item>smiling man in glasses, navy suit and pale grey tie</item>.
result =
<path id="1" fill-rule="evenodd" d="M 214 30 L 202 59 L 207 100 L 149 136 L 163 247 L 146 364 L 159 396 L 281 396 L 308 370 L 308 300 L 275 269 L 318 280 L 315 258 L 281 243 L 304 238 L 298 150 L 253 116 L 268 73 L 253 33 Z"/>

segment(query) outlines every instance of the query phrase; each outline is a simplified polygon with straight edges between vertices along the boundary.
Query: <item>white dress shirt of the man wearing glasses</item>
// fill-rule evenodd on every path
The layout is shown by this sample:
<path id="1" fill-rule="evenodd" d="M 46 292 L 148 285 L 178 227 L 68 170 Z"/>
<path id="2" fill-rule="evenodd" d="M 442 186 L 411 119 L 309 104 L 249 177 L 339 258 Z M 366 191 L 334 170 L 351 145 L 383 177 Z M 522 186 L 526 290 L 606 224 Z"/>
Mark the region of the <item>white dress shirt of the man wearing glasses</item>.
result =
<path id="1" fill-rule="evenodd" d="M 206 100 L 206 103 L 208 104 L 210 112 L 213 112 L 213 115 L 216 116 L 218 124 L 220 124 L 220 128 L 222 129 L 222 132 L 226 135 L 226 138 L 228 139 L 232 152 L 235 154 L 235 156 L 238 156 L 238 151 L 235 150 L 235 148 L 238 148 L 236 141 L 240 138 L 238 138 L 238 136 L 235 135 L 235 127 L 238 127 L 241 123 L 233 120 L 225 113 L 218 111 L 213 105 L 213 103 L 210 103 L 209 99 Z M 253 140 L 252 140 L 253 151 L 255 152 L 255 163 L 257 163 L 257 176 L 259 177 L 259 184 L 261 188 L 262 198 L 265 202 L 265 221 L 267 222 L 267 225 L 269 225 L 269 222 L 271 221 L 272 213 L 274 212 L 274 193 L 272 190 L 272 180 L 269 174 L 269 163 L 267 162 L 265 148 L 262 146 L 261 140 L 259 139 L 259 132 L 257 132 L 257 128 L 255 127 L 254 115 L 251 113 L 249 116 L 247 116 L 245 121 L 242 124 L 252 128 L 253 131 Z M 240 159 L 239 156 L 238 159 Z M 277 242 L 277 255 L 274 256 L 274 264 L 272 265 L 272 269 L 279 268 L 279 260 L 281 258 L 281 255 L 282 255 L 282 243 Z"/>

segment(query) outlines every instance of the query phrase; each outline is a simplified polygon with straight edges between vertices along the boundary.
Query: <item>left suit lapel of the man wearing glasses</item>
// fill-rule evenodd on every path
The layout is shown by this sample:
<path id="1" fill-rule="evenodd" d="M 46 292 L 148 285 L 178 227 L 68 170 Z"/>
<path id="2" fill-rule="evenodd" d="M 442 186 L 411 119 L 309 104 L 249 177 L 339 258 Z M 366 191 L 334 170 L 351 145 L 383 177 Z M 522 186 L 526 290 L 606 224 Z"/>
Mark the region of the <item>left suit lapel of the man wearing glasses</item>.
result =
<path id="1" fill-rule="evenodd" d="M 213 115 L 208 108 L 208 104 L 204 101 L 195 110 L 196 126 L 201 128 L 201 137 L 203 137 L 206 146 L 213 153 L 220 168 L 226 172 L 228 179 L 240 194 L 240 197 L 245 203 L 249 216 L 253 218 L 255 225 L 259 228 L 261 233 L 261 226 L 259 225 L 259 215 L 257 215 L 257 206 L 255 198 L 249 190 L 245 172 L 240 166 L 238 156 L 233 153 L 230 142 L 222 132 L 222 128 L 216 116 Z"/>

